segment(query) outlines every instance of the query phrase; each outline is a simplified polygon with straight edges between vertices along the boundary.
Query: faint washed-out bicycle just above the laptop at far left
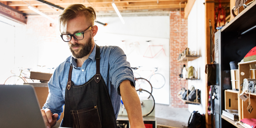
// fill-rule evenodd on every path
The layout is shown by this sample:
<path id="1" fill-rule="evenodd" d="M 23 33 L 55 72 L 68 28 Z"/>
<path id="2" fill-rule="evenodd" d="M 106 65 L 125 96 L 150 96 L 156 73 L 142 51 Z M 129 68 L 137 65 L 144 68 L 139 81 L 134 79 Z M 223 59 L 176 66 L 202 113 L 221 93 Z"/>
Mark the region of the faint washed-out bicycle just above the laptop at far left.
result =
<path id="1" fill-rule="evenodd" d="M 14 74 L 13 76 L 8 77 L 4 84 L 8 84 L 8 85 L 23 85 L 23 83 L 29 83 L 29 82 L 34 82 L 33 79 L 30 79 L 29 77 L 27 77 L 27 74 L 25 74 L 24 70 L 22 68 L 18 68 L 19 69 L 19 76 L 15 75 L 15 70 L 11 70 L 11 73 Z M 25 70 L 27 70 L 28 72 L 30 72 L 31 68 L 26 68 Z M 23 72 L 24 71 L 24 72 Z"/>

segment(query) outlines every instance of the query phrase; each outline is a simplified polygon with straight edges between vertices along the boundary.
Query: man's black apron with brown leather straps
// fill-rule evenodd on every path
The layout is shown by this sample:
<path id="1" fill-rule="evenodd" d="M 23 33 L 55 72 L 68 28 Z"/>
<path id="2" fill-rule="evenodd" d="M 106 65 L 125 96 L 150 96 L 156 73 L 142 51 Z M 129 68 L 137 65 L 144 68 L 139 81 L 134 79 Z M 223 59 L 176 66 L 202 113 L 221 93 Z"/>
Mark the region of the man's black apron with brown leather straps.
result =
<path id="1" fill-rule="evenodd" d="M 96 74 L 82 85 L 74 86 L 71 82 L 73 67 L 70 66 L 69 68 L 62 127 L 117 128 L 116 116 L 108 89 L 99 70 L 98 45 L 96 45 L 95 59 Z"/>

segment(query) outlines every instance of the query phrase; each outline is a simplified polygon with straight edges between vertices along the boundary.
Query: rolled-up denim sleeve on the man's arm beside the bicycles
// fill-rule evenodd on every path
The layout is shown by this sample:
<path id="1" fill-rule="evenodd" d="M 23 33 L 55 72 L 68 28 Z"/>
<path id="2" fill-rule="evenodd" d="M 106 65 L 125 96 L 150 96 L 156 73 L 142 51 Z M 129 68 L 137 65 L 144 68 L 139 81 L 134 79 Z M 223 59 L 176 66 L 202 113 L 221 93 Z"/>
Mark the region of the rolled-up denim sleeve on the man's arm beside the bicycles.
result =
<path id="1" fill-rule="evenodd" d="M 119 85 L 124 80 L 130 80 L 132 86 L 135 86 L 131 65 L 126 59 L 124 51 L 119 47 L 115 47 L 109 56 L 110 81 L 115 87 L 118 95 L 121 95 Z"/>

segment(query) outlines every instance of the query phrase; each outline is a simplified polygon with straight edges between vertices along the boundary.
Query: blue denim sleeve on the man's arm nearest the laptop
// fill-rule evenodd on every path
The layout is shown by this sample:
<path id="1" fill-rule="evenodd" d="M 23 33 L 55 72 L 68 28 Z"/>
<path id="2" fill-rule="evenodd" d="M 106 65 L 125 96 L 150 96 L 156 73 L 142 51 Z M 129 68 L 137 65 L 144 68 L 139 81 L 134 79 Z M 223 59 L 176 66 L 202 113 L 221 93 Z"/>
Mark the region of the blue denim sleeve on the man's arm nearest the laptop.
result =
<path id="1" fill-rule="evenodd" d="M 50 78 L 50 81 L 48 83 L 49 94 L 42 108 L 42 109 L 46 109 L 46 108 L 50 109 L 53 114 L 57 113 L 59 115 L 57 120 L 60 119 L 60 114 L 63 112 L 63 105 L 65 102 L 62 94 L 63 92 L 60 84 L 60 78 L 57 75 L 60 72 L 59 73 L 58 72 L 59 72 L 59 69 L 56 68 L 52 77 Z"/>

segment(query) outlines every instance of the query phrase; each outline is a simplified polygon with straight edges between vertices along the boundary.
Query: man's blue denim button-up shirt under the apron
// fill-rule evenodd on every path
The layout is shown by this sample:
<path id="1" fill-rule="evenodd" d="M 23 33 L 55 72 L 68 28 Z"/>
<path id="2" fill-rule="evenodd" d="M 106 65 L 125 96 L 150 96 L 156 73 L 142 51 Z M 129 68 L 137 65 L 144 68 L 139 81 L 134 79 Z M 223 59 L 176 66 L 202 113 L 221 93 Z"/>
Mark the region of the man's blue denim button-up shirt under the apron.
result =
<path id="1" fill-rule="evenodd" d="M 63 112 L 70 65 L 73 66 L 71 80 L 75 86 L 86 83 L 96 74 L 95 52 L 96 44 L 82 67 L 77 67 L 75 58 L 70 56 L 55 69 L 48 83 L 49 95 L 43 109 L 48 108 L 52 113 L 59 114 L 57 120 Z M 100 46 L 100 57 L 100 72 L 109 91 L 117 119 L 121 101 L 119 85 L 123 80 L 130 80 L 135 85 L 132 69 L 123 50 L 118 46 Z"/>

